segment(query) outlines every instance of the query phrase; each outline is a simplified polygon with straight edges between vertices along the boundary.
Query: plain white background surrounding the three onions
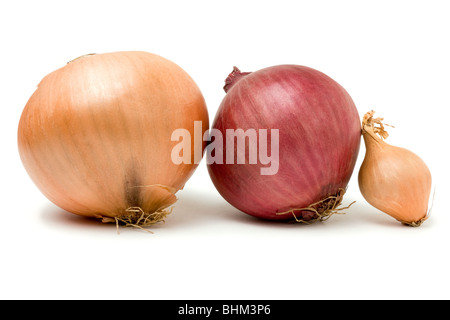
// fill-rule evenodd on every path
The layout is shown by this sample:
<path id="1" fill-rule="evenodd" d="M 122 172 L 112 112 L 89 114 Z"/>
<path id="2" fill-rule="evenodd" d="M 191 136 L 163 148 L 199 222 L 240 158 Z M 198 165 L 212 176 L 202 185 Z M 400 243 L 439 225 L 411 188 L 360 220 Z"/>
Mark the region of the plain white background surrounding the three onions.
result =
<path id="1" fill-rule="evenodd" d="M 0 298 L 449 299 L 448 1 L 2 1 Z M 86 53 L 143 50 L 197 82 L 212 121 L 234 65 L 293 63 L 343 85 L 360 116 L 395 125 L 388 142 L 433 173 L 431 218 L 409 228 L 368 205 L 357 172 L 346 215 L 311 226 L 229 205 L 203 161 L 154 234 L 51 204 L 17 151 L 38 82 Z M 326 125 L 326 124 L 324 124 Z"/>

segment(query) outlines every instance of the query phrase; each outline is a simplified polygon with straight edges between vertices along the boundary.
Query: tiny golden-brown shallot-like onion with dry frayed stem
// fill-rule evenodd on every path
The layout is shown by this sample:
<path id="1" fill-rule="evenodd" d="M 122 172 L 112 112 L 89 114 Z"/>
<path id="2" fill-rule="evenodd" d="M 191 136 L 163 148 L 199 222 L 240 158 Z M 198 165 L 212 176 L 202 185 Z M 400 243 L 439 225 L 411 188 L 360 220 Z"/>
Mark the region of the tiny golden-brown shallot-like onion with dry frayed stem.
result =
<path id="1" fill-rule="evenodd" d="M 383 118 L 366 113 L 362 134 L 366 155 L 359 171 L 359 188 L 375 208 L 410 226 L 428 218 L 431 173 L 425 162 L 410 150 L 389 145 Z"/>

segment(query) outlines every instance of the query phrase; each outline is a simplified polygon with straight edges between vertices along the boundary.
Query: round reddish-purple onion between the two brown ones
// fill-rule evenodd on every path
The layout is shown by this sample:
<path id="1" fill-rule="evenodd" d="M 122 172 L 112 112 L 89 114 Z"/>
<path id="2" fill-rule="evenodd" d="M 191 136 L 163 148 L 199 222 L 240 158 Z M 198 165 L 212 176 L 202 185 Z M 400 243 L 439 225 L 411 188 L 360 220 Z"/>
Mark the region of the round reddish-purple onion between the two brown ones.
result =
<path id="1" fill-rule="evenodd" d="M 297 65 L 269 67 L 237 80 L 227 83 L 212 125 L 224 137 L 224 164 L 208 161 L 210 177 L 225 200 L 252 216 L 292 220 L 293 215 L 277 212 L 308 207 L 346 188 L 358 157 L 361 127 L 355 104 L 342 86 Z M 261 175 L 260 169 L 269 165 L 259 161 L 249 164 L 248 146 L 245 164 L 226 164 L 226 129 L 238 128 L 268 129 L 269 153 L 270 129 L 279 129 L 276 174 Z M 313 218 L 303 212 L 304 220 Z"/>

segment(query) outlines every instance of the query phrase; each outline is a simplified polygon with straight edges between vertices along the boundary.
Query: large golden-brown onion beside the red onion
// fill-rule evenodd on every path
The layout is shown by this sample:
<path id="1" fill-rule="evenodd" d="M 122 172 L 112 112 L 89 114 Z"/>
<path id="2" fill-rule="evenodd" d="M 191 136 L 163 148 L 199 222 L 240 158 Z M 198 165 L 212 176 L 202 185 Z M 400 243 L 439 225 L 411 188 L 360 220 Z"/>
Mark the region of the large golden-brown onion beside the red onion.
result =
<path id="1" fill-rule="evenodd" d="M 172 132 L 193 134 L 194 121 L 207 131 L 205 101 L 173 62 L 147 52 L 86 55 L 41 81 L 18 146 L 31 179 L 59 207 L 147 226 L 170 212 L 198 165 L 171 161 Z"/>

